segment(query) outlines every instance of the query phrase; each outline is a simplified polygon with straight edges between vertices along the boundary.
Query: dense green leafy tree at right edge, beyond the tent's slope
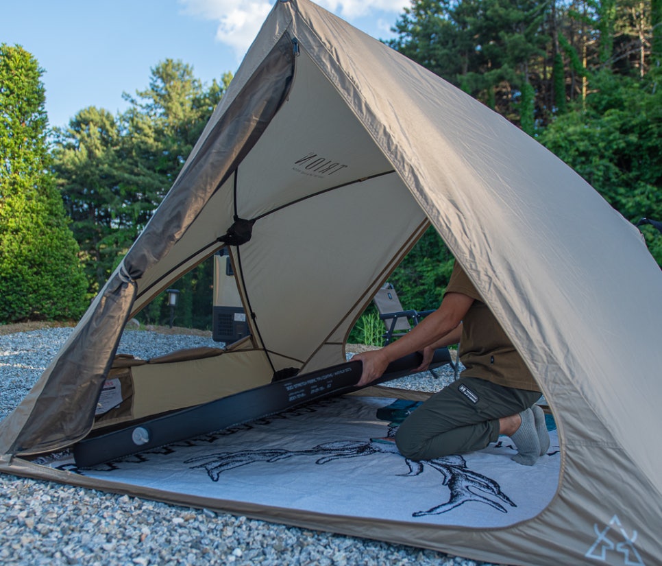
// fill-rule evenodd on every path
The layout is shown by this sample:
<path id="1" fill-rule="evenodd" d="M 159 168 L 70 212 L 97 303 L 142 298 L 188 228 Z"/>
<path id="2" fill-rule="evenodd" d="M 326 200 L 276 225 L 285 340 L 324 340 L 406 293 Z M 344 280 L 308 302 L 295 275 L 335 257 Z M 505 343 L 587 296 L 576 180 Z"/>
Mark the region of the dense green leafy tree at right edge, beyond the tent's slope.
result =
<path id="1" fill-rule="evenodd" d="M 643 80 L 606 69 L 591 75 L 585 104 L 539 136 L 631 222 L 662 217 L 661 74 L 658 68 Z M 654 255 L 662 264 L 662 249 Z"/>

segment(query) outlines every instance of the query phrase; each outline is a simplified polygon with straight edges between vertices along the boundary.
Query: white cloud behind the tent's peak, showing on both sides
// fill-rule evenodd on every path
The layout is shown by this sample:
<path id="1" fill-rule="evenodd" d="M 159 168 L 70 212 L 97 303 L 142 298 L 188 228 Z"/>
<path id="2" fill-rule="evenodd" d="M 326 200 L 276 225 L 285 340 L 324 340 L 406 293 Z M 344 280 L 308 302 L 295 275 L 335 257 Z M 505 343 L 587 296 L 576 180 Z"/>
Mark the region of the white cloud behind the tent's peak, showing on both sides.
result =
<path id="1" fill-rule="evenodd" d="M 274 0 L 180 0 L 184 13 L 217 21 L 216 38 L 234 49 L 241 58 L 260 30 Z M 352 22 L 352 19 L 379 12 L 401 14 L 409 0 L 317 0 L 326 10 Z M 377 19 L 377 15 L 376 15 Z M 395 21 L 395 17 L 393 17 Z M 388 30 L 388 28 L 387 28 Z"/>

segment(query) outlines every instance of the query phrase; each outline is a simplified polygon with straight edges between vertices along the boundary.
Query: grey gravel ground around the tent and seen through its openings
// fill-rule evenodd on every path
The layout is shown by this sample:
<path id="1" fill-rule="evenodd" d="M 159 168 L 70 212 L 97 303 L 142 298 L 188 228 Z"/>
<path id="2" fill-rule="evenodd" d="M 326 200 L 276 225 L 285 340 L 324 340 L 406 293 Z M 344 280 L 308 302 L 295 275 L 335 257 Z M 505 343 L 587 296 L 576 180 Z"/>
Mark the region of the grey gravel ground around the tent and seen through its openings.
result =
<path id="1" fill-rule="evenodd" d="M 0 334 L 0 420 L 20 403 L 71 328 Z M 149 358 L 219 346 L 207 335 L 127 331 L 119 352 Z M 391 382 L 436 391 L 429 373 Z M 3 565 L 495 566 L 430 550 L 0 474 Z"/>

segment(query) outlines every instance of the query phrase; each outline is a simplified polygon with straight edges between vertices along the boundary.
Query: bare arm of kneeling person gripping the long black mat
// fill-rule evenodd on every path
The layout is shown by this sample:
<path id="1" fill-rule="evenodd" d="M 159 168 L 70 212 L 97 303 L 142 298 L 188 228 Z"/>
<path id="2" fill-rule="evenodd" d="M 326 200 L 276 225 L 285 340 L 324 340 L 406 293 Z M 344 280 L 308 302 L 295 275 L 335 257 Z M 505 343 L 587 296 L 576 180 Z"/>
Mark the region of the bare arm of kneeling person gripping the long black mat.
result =
<path id="1" fill-rule="evenodd" d="M 447 293 L 441 306 L 402 338 L 380 350 L 364 352 L 352 357 L 363 362 L 363 373 L 358 385 L 365 386 L 371 383 L 380 377 L 395 359 L 414 352 L 424 353 L 424 365 L 427 367 L 430 362 L 428 360 L 427 364 L 425 363 L 426 353 L 429 355 L 431 352 L 428 346 L 441 347 L 457 343 L 461 333 L 459 325 L 473 302 L 474 299 L 465 294 Z M 421 368 L 424 365 L 421 364 Z"/>

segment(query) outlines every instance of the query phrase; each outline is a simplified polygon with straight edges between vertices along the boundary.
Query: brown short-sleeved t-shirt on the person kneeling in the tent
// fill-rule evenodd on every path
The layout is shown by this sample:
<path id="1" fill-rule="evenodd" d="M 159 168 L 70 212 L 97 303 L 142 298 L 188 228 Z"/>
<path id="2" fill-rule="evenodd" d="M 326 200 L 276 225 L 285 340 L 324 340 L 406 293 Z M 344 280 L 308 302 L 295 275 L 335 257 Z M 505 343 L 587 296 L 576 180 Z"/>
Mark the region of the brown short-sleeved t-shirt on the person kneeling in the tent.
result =
<path id="1" fill-rule="evenodd" d="M 457 262 L 446 292 L 462 293 L 474 299 L 462 325 L 460 359 L 466 368 L 462 376 L 487 379 L 506 387 L 539 391 L 522 356 L 508 340 L 501 325 Z"/>

